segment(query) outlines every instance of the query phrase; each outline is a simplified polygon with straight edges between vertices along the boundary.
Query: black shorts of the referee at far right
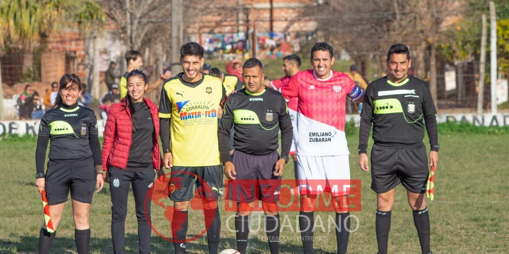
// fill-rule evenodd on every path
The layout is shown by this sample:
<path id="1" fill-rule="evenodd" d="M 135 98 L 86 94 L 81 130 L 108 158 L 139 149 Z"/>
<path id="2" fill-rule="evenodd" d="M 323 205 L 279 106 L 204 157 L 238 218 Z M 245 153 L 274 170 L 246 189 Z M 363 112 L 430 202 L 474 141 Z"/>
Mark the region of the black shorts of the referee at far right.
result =
<path id="1" fill-rule="evenodd" d="M 428 154 L 420 142 L 408 146 L 374 144 L 371 150 L 371 188 L 386 193 L 400 183 L 412 193 L 426 193 Z"/>

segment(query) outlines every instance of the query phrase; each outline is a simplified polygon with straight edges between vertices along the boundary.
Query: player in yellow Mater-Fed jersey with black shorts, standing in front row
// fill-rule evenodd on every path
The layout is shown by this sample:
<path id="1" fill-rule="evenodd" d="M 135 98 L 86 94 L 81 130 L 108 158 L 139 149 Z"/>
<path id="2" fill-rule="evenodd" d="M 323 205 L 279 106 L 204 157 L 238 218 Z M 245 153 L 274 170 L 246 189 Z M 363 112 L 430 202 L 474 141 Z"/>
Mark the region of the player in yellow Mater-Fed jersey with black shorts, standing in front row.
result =
<path id="1" fill-rule="evenodd" d="M 182 45 L 184 72 L 164 82 L 159 104 L 164 166 L 172 167 L 169 198 L 174 201 L 172 234 L 175 253 L 185 253 L 187 209 L 194 184 L 205 208 L 209 253 L 217 253 L 221 221 L 217 209 L 221 181 L 217 114 L 225 101 L 219 78 L 201 72 L 204 49 L 195 42 Z"/>

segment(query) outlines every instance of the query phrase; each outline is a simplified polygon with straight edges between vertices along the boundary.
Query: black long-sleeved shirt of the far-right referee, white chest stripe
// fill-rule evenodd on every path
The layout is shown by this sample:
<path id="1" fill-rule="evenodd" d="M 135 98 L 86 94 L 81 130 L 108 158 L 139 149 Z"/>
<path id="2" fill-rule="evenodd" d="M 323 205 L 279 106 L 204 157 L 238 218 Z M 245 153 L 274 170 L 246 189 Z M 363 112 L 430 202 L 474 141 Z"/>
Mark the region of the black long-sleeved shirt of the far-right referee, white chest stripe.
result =
<path id="1" fill-rule="evenodd" d="M 430 143 L 438 144 L 436 113 L 430 89 L 420 79 L 409 75 L 400 83 L 393 83 L 387 77 L 371 82 L 360 114 L 359 152 L 367 148 L 372 122 L 376 143 L 405 145 L 422 142 L 426 119 Z M 363 123 L 369 125 L 362 128 Z M 430 133 L 430 130 L 434 131 Z"/>

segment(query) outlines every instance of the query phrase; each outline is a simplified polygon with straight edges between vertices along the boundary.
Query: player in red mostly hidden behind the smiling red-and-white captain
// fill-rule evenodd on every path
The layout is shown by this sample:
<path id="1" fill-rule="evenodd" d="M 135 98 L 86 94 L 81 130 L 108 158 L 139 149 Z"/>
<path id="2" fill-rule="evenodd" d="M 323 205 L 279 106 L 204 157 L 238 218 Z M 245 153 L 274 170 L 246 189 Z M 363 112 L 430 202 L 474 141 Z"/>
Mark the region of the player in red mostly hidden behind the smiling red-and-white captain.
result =
<path id="1" fill-rule="evenodd" d="M 288 85 L 290 82 L 290 78 L 297 74 L 300 70 L 300 57 L 298 55 L 287 55 L 283 58 L 283 70 L 285 71 L 286 76 L 280 79 L 270 81 L 270 86 L 276 90 L 279 88 Z M 296 155 L 296 144 L 297 144 L 297 97 L 290 99 L 287 102 L 288 106 L 288 114 L 292 119 L 293 129 L 293 140 L 292 140 L 292 148 L 290 149 L 290 154 L 293 157 L 294 165 L 295 165 L 295 176 L 297 176 L 297 155 Z"/>

